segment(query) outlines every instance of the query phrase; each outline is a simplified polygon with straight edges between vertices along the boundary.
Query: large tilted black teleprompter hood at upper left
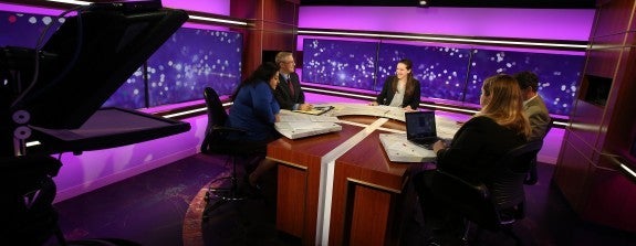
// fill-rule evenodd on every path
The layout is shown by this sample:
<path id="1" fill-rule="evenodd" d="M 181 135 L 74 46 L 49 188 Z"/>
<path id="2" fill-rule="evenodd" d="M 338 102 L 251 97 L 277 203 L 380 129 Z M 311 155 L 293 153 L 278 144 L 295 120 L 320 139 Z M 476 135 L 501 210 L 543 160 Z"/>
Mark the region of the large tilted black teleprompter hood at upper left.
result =
<path id="1" fill-rule="evenodd" d="M 160 1 L 85 7 L 42 46 L 39 68 L 23 69 L 38 76 L 21 76 L 12 110 L 29 113 L 31 126 L 80 128 L 187 20 Z"/>

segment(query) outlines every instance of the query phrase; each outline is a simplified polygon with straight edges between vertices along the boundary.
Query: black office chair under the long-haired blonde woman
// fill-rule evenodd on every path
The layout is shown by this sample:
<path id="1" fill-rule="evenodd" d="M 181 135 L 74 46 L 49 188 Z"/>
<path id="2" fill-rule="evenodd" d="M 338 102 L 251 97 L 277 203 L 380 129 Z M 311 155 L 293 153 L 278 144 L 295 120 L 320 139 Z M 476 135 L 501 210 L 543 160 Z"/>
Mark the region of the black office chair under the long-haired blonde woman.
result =
<path id="1" fill-rule="evenodd" d="M 465 244 L 468 245 L 472 225 L 478 229 L 502 232 L 512 237 L 517 245 L 522 243 L 512 232 L 512 225 L 525 216 L 523 181 L 531 160 L 542 145 L 541 140 L 536 140 L 509 151 L 498 161 L 489 184 L 462 179 L 440 169 L 436 171 L 431 190 L 437 199 L 465 218 Z"/>

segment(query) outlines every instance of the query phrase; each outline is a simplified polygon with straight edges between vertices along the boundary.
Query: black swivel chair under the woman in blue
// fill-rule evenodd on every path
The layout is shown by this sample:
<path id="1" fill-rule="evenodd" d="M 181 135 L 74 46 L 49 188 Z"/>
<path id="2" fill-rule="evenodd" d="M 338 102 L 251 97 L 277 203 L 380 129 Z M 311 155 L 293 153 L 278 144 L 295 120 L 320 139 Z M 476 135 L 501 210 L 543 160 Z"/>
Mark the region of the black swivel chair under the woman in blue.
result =
<path id="1" fill-rule="evenodd" d="M 228 140 L 227 136 L 230 132 L 244 133 L 242 129 L 226 127 L 228 114 L 223 108 L 219 95 L 211 87 L 206 87 L 204 90 L 208 113 L 208 126 L 206 128 L 206 136 L 201 143 L 201 152 L 208 154 L 222 154 L 228 156 L 232 162 L 232 170 L 229 177 L 222 177 L 210 182 L 208 192 L 206 193 L 206 202 L 210 202 L 211 196 L 221 199 L 222 201 L 239 201 L 247 197 L 244 192 L 239 189 L 239 179 L 237 170 L 237 158 L 247 158 L 253 161 L 257 157 L 265 154 L 265 146 L 258 142 L 250 141 L 233 141 Z M 221 188 L 213 186 L 217 181 L 229 180 L 229 185 Z M 213 208 L 220 205 L 217 203 L 212 205 Z"/>

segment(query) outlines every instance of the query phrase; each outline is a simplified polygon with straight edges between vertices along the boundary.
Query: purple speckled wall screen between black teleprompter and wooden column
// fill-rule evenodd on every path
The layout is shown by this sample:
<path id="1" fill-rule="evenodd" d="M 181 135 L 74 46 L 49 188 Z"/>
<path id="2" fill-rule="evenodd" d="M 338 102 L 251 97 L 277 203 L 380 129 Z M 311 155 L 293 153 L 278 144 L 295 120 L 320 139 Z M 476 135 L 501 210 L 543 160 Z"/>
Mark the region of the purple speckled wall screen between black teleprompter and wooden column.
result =
<path id="1" fill-rule="evenodd" d="M 204 98 L 204 88 L 229 95 L 241 77 L 242 34 L 179 29 L 148 58 L 149 106 Z"/>

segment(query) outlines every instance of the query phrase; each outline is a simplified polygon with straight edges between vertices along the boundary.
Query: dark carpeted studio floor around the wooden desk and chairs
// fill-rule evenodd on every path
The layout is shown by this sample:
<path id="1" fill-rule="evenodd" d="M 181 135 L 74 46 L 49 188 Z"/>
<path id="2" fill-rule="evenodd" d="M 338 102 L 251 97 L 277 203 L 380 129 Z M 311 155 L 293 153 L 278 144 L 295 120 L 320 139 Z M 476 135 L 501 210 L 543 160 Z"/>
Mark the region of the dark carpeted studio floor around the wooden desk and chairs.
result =
<path id="1" fill-rule="evenodd" d="M 148 246 L 299 245 L 299 238 L 275 229 L 275 170 L 263 177 L 262 190 L 246 200 L 205 201 L 211 181 L 228 175 L 229 170 L 225 157 L 196 154 L 54 204 L 59 224 L 70 240 L 122 238 Z M 553 165 L 540 163 L 539 182 L 526 186 L 526 217 L 514 231 L 528 245 L 636 246 L 634 234 L 578 220 L 552 184 L 553 170 Z M 209 204 L 218 207 L 206 210 Z M 411 220 L 403 245 L 425 245 L 421 232 L 419 221 Z M 511 244 L 505 236 L 489 232 L 473 242 Z M 46 245 L 58 244 L 51 239 Z"/>

